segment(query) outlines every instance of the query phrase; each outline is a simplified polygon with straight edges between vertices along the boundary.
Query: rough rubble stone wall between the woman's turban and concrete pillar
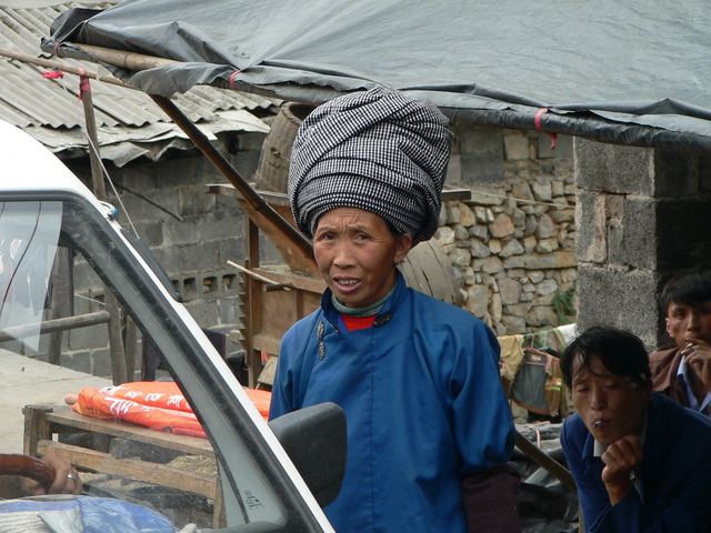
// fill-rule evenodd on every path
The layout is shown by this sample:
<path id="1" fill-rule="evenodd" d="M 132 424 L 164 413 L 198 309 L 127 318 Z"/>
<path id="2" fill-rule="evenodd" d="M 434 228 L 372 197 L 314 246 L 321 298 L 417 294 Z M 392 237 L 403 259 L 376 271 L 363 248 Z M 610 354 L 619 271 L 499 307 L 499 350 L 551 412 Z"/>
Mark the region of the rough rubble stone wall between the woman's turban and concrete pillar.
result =
<path id="1" fill-rule="evenodd" d="M 537 132 L 457 128 L 449 202 L 435 235 L 454 266 L 463 306 L 498 335 L 574 322 L 555 296 L 575 283 L 572 139 Z"/>

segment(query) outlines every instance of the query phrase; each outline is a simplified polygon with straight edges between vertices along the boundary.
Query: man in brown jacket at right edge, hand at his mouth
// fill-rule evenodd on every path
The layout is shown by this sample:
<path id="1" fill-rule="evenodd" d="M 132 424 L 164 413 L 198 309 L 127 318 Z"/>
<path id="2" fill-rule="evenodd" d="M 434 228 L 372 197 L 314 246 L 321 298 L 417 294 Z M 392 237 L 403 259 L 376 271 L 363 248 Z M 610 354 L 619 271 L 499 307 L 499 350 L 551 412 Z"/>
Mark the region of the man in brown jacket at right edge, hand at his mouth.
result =
<path id="1" fill-rule="evenodd" d="M 650 355 L 654 391 L 711 414 L 711 271 L 680 274 L 662 290 L 659 305 L 675 348 Z"/>

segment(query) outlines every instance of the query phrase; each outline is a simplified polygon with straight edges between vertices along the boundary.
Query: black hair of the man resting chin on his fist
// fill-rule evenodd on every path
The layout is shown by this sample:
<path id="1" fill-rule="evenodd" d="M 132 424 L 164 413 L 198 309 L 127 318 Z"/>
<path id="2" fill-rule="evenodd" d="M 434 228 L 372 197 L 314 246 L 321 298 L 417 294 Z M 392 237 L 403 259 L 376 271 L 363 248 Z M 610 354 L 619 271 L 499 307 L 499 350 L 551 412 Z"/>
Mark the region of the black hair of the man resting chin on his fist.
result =
<path id="1" fill-rule="evenodd" d="M 652 376 L 649 354 L 637 335 L 612 326 L 592 326 L 568 344 L 560 356 L 563 382 L 569 388 L 572 386 L 574 363 L 580 361 L 580 369 L 591 372 L 592 358 L 600 358 L 610 372 L 631 378 L 640 385 Z"/>

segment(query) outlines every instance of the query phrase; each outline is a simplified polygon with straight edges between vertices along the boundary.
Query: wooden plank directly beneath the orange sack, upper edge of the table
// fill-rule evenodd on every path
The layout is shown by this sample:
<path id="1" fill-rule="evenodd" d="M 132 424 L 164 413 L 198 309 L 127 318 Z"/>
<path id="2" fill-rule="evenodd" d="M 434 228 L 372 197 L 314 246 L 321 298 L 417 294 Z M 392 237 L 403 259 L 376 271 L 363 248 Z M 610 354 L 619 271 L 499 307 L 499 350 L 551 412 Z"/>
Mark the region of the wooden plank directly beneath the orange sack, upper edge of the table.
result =
<path id="1" fill-rule="evenodd" d="M 133 441 L 144 442 L 157 446 L 196 455 L 214 456 L 214 451 L 208 439 L 189 435 L 176 435 L 163 431 L 143 428 L 122 420 L 104 420 L 86 416 L 73 412 L 68 406 L 58 406 L 51 413 L 44 414 L 46 421 L 53 432 L 58 433 L 60 426 L 80 429 L 91 433 L 121 436 Z M 52 425 L 54 424 L 54 425 Z"/>

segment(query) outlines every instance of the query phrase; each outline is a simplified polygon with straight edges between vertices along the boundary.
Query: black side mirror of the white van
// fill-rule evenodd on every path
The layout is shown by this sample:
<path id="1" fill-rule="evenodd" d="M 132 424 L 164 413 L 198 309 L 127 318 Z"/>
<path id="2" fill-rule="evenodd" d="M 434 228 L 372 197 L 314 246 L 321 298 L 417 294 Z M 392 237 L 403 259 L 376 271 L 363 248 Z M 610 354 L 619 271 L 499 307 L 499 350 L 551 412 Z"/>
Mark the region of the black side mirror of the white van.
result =
<path id="1" fill-rule="evenodd" d="M 346 474 L 346 413 L 327 402 L 283 414 L 269 428 L 289 454 L 319 505 L 333 502 Z"/>

